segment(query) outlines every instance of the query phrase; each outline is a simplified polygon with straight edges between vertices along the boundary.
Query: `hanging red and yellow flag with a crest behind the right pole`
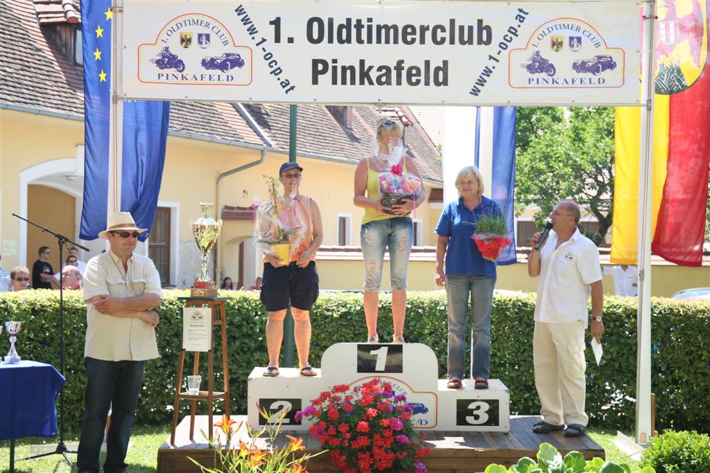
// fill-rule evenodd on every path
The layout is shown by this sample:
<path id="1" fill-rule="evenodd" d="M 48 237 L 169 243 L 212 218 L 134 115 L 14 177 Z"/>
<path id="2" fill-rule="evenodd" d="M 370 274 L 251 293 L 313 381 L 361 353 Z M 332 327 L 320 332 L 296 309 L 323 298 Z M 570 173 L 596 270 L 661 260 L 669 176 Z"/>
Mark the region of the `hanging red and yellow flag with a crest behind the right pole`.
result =
<path id="1" fill-rule="evenodd" d="M 652 251 L 700 266 L 710 166 L 710 0 L 657 6 L 653 123 Z M 640 114 L 616 108 L 611 261 L 635 264 Z"/>

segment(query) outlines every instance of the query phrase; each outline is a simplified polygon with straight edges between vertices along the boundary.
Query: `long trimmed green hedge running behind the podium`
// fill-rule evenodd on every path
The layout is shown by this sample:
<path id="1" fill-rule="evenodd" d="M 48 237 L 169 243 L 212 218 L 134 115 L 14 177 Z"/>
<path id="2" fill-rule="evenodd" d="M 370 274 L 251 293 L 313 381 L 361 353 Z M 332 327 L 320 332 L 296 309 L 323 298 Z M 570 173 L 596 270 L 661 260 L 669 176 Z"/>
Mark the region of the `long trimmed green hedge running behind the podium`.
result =
<path id="1" fill-rule="evenodd" d="M 254 366 L 266 366 L 266 312 L 258 293 L 229 291 L 227 334 L 233 410 L 246 411 L 246 378 Z M 180 352 L 182 303 L 187 291 L 165 291 L 158 308 L 158 349 L 162 355 L 148 362 L 138 423 L 167 424 L 173 405 L 175 375 Z M 381 298 L 379 334 L 392 336 L 391 297 Z M 491 376 L 510 388 L 512 413 L 537 413 L 532 372 L 532 314 L 535 294 L 496 296 L 493 301 L 491 333 Z M 18 352 L 26 360 L 59 365 L 59 297 L 56 291 L 38 290 L 0 293 L 2 321 L 21 320 Z M 587 354 L 587 404 L 591 423 L 606 428 L 629 430 L 635 416 L 636 306 L 633 300 L 609 297 L 604 303 L 606 335 L 604 357 L 596 366 L 591 350 Z M 85 308 L 81 295 L 65 294 L 65 376 L 67 428 L 80 425 L 83 412 L 85 369 Z M 320 365 L 324 350 L 333 343 L 365 340 L 366 326 L 361 294 L 322 294 L 313 308 L 310 361 Z M 652 391 L 656 394 L 656 427 L 710 430 L 710 306 L 701 302 L 672 299 L 652 301 Z M 439 360 L 439 376 L 446 374 L 446 296 L 441 293 L 409 294 L 405 336 L 409 342 L 432 347 Z M 6 334 L 0 350 L 9 348 Z M 216 360 L 221 359 L 219 347 Z M 202 362 L 206 360 L 202 356 Z M 192 360 L 188 359 L 188 365 Z M 219 367 L 219 364 L 216 363 Z M 221 379 L 216 380 L 219 386 Z M 187 412 L 187 403 L 182 411 Z M 202 406 L 204 408 L 204 406 Z M 222 406 L 218 405 L 218 409 Z"/>

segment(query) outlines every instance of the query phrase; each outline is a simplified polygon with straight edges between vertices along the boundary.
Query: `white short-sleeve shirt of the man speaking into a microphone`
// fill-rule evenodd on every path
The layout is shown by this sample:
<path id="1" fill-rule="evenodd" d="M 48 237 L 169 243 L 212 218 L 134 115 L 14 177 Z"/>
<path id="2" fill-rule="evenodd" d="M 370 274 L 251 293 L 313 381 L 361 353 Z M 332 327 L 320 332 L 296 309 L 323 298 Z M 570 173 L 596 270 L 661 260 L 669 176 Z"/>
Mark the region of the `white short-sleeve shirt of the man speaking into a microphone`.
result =
<path id="1" fill-rule="evenodd" d="M 601 281 L 599 250 L 594 242 L 574 231 L 557 249 L 557 233 L 550 232 L 540 249 L 535 322 L 589 323 L 589 284 Z"/>

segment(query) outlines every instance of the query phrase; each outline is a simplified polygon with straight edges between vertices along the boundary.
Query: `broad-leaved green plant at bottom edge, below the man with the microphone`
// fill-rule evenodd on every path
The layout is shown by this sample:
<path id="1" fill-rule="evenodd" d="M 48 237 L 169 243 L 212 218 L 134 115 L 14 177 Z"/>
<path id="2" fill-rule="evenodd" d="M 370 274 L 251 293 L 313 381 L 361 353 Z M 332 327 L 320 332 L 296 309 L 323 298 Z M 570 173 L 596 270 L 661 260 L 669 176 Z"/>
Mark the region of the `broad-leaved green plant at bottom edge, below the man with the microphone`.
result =
<path id="1" fill-rule="evenodd" d="M 510 468 L 502 464 L 490 464 L 484 473 L 630 473 L 627 464 L 605 462 L 601 458 L 586 461 L 584 455 L 572 451 L 562 457 L 549 443 L 540 444 L 537 462 L 530 457 L 523 457 Z M 638 470 L 638 473 L 655 473 L 651 467 Z"/>

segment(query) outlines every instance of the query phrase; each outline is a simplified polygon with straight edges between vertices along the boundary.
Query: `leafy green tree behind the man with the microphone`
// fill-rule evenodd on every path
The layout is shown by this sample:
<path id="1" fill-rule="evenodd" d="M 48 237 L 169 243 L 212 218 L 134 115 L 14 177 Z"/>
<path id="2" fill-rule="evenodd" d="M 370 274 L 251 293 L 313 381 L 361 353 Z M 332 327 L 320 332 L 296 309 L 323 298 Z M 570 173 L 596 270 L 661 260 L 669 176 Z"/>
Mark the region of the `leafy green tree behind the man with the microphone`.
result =
<path id="1" fill-rule="evenodd" d="M 614 109 L 520 107 L 516 131 L 516 213 L 535 205 L 535 224 L 562 199 L 594 215 L 599 245 L 613 213 Z"/>

